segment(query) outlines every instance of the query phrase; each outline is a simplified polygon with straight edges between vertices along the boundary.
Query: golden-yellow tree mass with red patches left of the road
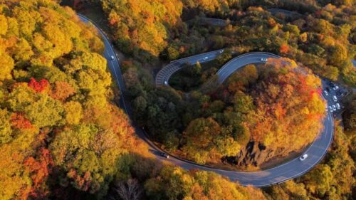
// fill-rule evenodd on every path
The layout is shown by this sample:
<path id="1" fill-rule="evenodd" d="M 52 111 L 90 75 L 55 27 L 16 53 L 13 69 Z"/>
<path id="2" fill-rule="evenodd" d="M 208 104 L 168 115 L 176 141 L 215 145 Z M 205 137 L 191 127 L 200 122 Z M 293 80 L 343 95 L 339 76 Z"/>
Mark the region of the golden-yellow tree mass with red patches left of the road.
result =
<path id="1" fill-rule="evenodd" d="M 136 139 L 111 102 L 102 52 L 96 29 L 70 8 L 1 1 L 1 200 L 107 194 Z"/>

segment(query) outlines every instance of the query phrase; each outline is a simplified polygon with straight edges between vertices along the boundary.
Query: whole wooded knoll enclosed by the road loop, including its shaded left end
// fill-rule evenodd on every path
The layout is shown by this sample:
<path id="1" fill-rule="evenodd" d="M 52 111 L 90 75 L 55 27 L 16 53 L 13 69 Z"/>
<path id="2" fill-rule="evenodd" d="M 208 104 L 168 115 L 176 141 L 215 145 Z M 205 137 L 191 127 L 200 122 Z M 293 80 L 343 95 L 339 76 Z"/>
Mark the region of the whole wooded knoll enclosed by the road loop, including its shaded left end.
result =
<path id="1" fill-rule="evenodd" d="M 270 59 L 247 65 L 210 93 L 185 98 L 157 88 L 135 98 L 133 108 L 135 120 L 175 154 L 200 164 L 222 160 L 258 167 L 315 140 L 325 115 L 320 84 L 293 60 Z M 264 149 L 259 159 L 246 157 L 251 146 Z"/>

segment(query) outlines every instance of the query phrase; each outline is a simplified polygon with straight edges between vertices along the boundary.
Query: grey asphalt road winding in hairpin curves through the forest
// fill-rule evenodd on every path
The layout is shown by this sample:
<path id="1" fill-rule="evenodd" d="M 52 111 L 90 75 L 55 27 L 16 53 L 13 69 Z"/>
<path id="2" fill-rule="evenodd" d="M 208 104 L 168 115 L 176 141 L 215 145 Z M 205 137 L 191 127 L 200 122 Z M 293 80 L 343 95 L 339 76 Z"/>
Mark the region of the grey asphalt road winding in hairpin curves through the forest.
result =
<path id="1" fill-rule="evenodd" d="M 78 16 L 80 17 L 80 20 L 85 23 L 88 23 L 90 21 L 85 16 L 82 15 L 78 15 Z M 93 24 L 95 25 L 95 23 Z M 116 57 L 114 60 L 111 59 L 111 56 L 115 56 L 115 51 L 113 50 L 108 38 L 105 36 L 105 33 L 103 33 L 103 31 L 101 31 L 98 26 L 96 26 L 96 28 L 98 28 L 98 31 L 100 35 L 103 37 L 103 41 L 105 43 L 105 52 L 103 56 L 108 60 L 108 67 L 110 68 L 112 77 L 115 79 L 121 91 L 120 107 L 122 107 L 122 109 L 125 110 L 127 115 L 129 115 L 129 117 L 131 118 L 132 109 L 130 107 L 130 102 L 125 101 L 126 89 L 125 89 L 124 80 L 122 78 L 119 62 Z M 183 63 L 196 63 L 197 61 L 204 63 L 209 60 L 214 60 L 222 52 L 223 50 L 212 51 L 197 56 L 192 56 L 189 58 L 183 58 L 180 60 L 176 60 L 172 63 L 169 63 L 169 65 L 166 65 L 164 68 L 162 68 L 161 71 L 159 71 L 156 79 L 156 85 L 157 86 L 164 85 L 164 80 L 169 80 L 169 77 L 174 72 L 182 68 Z M 235 70 L 243 67 L 246 64 L 261 63 L 261 58 L 278 58 L 278 56 L 273 55 L 271 53 L 258 52 L 258 53 L 246 53 L 242 56 L 236 57 L 231 61 L 229 61 L 229 63 L 226 63 L 226 65 L 224 65 L 221 68 L 221 70 L 218 71 L 217 74 L 219 75 L 219 83 L 224 82 L 224 80 L 226 80 L 226 78 L 228 78 L 229 75 L 231 75 L 231 73 L 234 73 Z M 145 131 L 134 124 L 132 125 L 135 127 L 135 131 L 138 137 L 140 137 L 142 140 L 147 142 L 147 144 L 150 146 L 150 151 L 152 152 L 152 154 L 155 155 L 157 159 L 166 160 L 184 169 L 201 169 L 201 170 L 216 172 L 217 174 L 221 174 L 225 177 L 229 177 L 231 181 L 239 181 L 239 183 L 244 186 L 252 185 L 252 186 L 262 187 L 262 186 L 270 186 L 271 184 L 278 184 L 283 181 L 287 181 L 288 179 L 299 177 L 300 175 L 308 172 L 316 164 L 318 164 L 318 162 L 320 162 L 321 159 L 323 159 L 323 157 L 325 156 L 328 150 L 328 147 L 333 141 L 333 130 L 334 130 L 333 117 L 331 116 L 330 112 L 328 112 L 328 115 L 325 116 L 325 120 L 323 123 L 324 123 L 324 130 L 320 132 L 319 137 L 313 142 L 313 144 L 310 145 L 310 147 L 305 152 L 308 154 L 307 159 L 305 159 L 302 162 L 298 158 L 295 158 L 293 160 L 290 160 L 289 162 L 279 165 L 278 167 L 273 167 L 271 169 L 266 169 L 258 172 L 236 172 L 236 171 L 229 171 L 229 170 L 222 170 L 222 169 L 213 169 L 211 167 L 195 164 L 194 162 L 190 162 L 188 160 L 177 158 L 174 156 L 170 157 L 169 159 L 165 159 L 164 157 L 161 157 L 159 155 L 160 152 L 164 152 L 164 151 L 162 149 L 159 149 L 157 146 L 155 146 L 155 144 L 153 144 L 147 138 Z"/>

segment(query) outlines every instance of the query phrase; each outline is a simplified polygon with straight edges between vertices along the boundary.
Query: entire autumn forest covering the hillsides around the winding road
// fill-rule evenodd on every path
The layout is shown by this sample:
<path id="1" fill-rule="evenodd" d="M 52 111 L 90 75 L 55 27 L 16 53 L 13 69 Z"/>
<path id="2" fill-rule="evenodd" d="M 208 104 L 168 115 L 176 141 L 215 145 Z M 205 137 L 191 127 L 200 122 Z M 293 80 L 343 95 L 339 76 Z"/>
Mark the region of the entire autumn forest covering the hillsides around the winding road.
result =
<path id="1" fill-rule="evenodd" d="M 303 148 L 325 113 L 313 73 L 355 85 L 352 1 L 88 1 L 102 6 L 115 47 L 126 56 L 120 65 L 132 121 L 118 107 L 122 91 L 102 56 L 102 38 L 59 3 L 0 0 L 0 199 L 355 199 L 353 94 L 342 122 L 335 120 L 325 159 L 302 177 L 263 189 L 159 162 L 132 127 L 132 121 L 145 127 L 162 148 L 182 157 L 246 169 L 258 163 L 241 162 L 236 152 L 251 139 L 278 154 Z M 273 7 L 305 15 L 273 16 L 266 11 Z M 230 25 L 201 25 L 199 16 Z M 180 90 L 155 88 L 152 63 L 218 48 L 270 51 L 303 66 L 248 65 L 214 92 L 192 90 L 189 101 Z M 189 73 L 203 84 L 231 58 L 226 53 L 208 70 L 197 64 Z M 286 121 L 305 117 L 313 121 Z M 280 152 L 286 140 L 294 145 Z"/>

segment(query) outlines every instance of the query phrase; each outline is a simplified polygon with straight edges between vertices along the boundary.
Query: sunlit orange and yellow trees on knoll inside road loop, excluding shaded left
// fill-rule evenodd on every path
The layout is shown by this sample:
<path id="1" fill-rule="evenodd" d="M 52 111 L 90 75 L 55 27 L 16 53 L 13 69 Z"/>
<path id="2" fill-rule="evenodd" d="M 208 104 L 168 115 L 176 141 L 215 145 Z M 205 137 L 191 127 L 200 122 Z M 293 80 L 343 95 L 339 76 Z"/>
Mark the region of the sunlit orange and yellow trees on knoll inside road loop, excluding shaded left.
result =
<path id="1" fill-rule="evenodd" d="M 187 123 L 179 149 L 198 163 L 234 157 L 234 164 L 258 166 L 313 142 L 325 117 L 320 79 L 288 58 L 247 65 L 224 86 L 199 97 L 199 106 L 201 114 Z M 266 154 L 254 158 L 251 148 Z"/>

